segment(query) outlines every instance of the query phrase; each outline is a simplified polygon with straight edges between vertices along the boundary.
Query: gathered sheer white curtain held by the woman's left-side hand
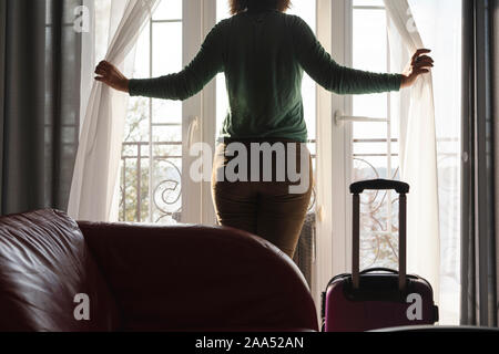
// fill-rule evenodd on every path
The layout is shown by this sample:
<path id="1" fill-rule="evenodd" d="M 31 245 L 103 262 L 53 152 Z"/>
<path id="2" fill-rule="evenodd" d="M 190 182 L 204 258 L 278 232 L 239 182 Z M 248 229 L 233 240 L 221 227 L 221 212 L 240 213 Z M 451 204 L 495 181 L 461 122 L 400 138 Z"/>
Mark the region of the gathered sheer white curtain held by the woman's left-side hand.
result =
<path id="1" fill-rule="evenodd" d="M 110 41 L 105 60 L 128 71 L 126 66 L 133 62 L 130 54 L 133 54 L 139 34 L 157 3 L 159 0 L 110 2 Z M 95 25 L 102 25 L 102 21 Z M 92 42 L 89 42 L 90 45 Z M 83 50 L 89 56 L 92 52 L 90 49 Z M 93 59 L 83 58 L 83 61 L 93 62 Z M 93 73 L 86 73 L 83 77 L 93 80 Z M 89 83 L 83 82 L 82 86 L 85 85 Z M 85 102 L 68 212 L 78 220 L 114 221 L 118 218 L 118 170 L 128 95 L 93 82 L 89 97 L 82 97 L 82 104 Z"/>

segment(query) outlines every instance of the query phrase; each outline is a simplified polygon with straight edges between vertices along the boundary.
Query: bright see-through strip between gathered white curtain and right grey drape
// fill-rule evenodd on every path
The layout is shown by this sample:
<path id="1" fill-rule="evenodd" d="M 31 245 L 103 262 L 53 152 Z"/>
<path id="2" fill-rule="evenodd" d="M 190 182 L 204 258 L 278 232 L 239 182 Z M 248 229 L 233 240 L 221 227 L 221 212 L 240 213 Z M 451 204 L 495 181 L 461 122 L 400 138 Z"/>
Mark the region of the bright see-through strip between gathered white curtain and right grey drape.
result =
<path id="1" fill-rule="evenodd" d="M 461 0 L 409 0 L 421 38 L 432 49 L 438 195 L 440 323 L 458 324 L 460 309 Z"/>

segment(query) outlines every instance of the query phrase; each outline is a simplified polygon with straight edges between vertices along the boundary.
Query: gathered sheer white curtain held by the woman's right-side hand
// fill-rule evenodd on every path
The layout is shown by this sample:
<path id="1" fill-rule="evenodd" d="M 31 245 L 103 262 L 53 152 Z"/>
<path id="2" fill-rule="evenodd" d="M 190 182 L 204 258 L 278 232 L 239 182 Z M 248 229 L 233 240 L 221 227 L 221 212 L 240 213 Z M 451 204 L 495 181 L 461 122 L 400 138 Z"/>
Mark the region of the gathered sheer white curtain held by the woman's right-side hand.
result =
<path id="1" fill-rule="evenodd" d="M 389 19 L 394 71 L 401 72 L 410 55 L 425 48 L 407 0 L 384 0 Z M 440 238 L 437 138 L 432 76 L 427 74 L 396 100 L 399 115 L 401 179 L 408 196 L 407 270 L 426 278 L 439 302 Z"/>

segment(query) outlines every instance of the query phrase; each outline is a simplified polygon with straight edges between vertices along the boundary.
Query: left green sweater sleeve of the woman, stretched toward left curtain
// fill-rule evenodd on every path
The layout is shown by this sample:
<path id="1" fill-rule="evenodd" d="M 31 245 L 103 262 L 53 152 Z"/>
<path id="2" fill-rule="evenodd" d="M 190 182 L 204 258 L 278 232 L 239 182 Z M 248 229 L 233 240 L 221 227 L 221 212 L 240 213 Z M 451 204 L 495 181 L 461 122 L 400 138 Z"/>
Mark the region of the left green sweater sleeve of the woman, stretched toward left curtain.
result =
<path id="1" fill-rule="evenodd" d="M 196 56 L 184 70 L 154 79 L 132 79 L 130 95 L 184 101 L 198 93 L 223 71 L 222 22 L 210 31 Z"/>

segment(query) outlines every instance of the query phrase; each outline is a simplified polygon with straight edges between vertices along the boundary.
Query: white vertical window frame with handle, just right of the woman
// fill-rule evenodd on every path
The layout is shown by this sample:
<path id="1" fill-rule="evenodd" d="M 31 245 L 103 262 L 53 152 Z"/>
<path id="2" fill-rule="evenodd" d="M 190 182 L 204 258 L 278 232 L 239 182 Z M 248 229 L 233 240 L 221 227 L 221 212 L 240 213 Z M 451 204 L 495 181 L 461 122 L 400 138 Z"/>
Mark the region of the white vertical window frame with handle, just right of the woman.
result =
<path id="1" fill-rule="evenodd" d="M 330 17 L 330 54 L 339 64 L 352 66 L 353 63 L 353 1 L 333 0 Z M 320 38 L 319 38 L 320 40 Z M 324 42 L 322 42 L 324 45 Z M 329 93 L 328 93 L 329 94 Z M 350 123 L 336 125 L 336 112 L 352 115 L 352 96 L 330 95 L 329 122 L 319 122 L 323 133 L 320 146 L 325 155 L 330 154 L 330 163 L 324 164 L 323 184 L 324 198 L 319 209 L 319 220 L 323 221 L 322 237 L 318 238 L 317 274 L 319 289 L 325 289 L 334 274 L 352 271 L 352 201 L 348 192 L 352 179 L 353 126 Z M 324 100 L 324 98 L 323 98 Z M 326 131 L 327 129 L 327 131 Z M 324 142 L 326 139 L 326 142 Z M 330 221 L 328 221 L 329 219 Z M 316 290 L 319 291 L 319 290 Z M 317 295 L 316 295 L 317 296 Z"/>

